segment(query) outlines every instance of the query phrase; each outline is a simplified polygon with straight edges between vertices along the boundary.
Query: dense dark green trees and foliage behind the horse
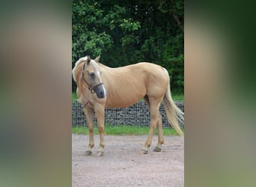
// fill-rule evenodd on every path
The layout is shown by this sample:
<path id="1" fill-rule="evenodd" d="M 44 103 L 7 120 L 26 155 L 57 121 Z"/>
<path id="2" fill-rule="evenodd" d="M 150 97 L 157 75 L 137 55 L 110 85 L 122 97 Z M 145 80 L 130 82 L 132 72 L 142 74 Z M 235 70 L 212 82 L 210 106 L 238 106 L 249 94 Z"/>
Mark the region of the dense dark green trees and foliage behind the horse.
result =
<path id="1" fill-rule="evenodd" d="M 90 55 L 109 67 L 148 61 L 183 91 L 183 0 L 73 0 L 72 67 Z M 76 85 L 73 82 L 73 91 Z"/>

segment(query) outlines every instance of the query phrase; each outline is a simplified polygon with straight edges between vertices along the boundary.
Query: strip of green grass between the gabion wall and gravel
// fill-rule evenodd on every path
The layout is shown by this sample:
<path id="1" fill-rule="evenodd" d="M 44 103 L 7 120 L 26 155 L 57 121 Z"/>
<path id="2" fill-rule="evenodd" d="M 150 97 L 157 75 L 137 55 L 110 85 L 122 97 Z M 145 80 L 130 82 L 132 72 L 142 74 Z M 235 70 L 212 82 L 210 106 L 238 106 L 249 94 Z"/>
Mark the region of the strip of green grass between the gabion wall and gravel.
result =
<path id="1" fill-rule="evenodd" d="M 104 129 L 105 135 L 147 135 L 149 127 L 138 127 L 138 126 L 109 126 L 106 125 Z M 184 130 L 184 129 L 183 129 Z M 88 135 L 88 127 L 72 127 L 72 132 L 79 135 Z M 94 127 L 94 134 L 98 135 L 98 129 Z M 177 132 L 172 128 L 164 128 L 164 135 L 178 135 Z M 157 129 L 155 131 L 157 135 Z"/>

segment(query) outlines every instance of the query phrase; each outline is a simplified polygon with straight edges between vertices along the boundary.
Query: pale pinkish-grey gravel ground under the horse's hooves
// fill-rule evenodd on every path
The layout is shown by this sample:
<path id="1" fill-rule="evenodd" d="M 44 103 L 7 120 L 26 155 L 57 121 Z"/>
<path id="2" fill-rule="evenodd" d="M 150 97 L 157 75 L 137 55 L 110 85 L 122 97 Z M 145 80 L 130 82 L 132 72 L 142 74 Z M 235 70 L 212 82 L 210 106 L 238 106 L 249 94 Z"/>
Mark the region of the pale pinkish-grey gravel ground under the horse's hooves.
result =
<path id="1" fill-rule="evenodd" d="M 165 136 L 162 152 L 139 154 L 146 135 L 105 135 L 104 156 L 83 156 L 88 135 L 72 135 L 72 186 L 184 186 L 184 138 Z"/>

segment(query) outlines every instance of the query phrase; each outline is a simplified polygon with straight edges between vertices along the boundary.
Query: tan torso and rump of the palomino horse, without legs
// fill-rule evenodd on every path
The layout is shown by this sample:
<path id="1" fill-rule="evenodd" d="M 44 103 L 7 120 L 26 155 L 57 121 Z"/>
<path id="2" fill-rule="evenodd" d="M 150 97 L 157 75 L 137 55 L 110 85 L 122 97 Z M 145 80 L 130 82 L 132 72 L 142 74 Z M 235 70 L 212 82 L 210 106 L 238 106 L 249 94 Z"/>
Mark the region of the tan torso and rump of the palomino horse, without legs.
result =
<path id="1" fill-rule="evenodd" d="M 144 96 L 161 96 L 168 87 L 168 73 L 157 64 L 140 62 L 126 67 L 100 66 L 106 86 L 106 108 L 134 105 Z"/>

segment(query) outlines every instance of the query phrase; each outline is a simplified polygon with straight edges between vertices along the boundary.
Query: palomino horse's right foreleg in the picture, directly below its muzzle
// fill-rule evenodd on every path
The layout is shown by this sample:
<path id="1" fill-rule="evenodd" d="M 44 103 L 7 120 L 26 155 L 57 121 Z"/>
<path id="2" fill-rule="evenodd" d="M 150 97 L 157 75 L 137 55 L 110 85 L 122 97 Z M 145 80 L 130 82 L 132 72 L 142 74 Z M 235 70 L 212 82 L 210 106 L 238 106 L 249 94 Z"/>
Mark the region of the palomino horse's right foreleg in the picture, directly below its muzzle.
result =
<path id="1" fill-rule="evenodd" d="M 103 156 L 103 148 L 105 146 L 105 141 L 104 141 L 104 106 L 100 106 L 99 108 L 95 108 L 95 114 L 97 117 L 97 125 L 98 125 L 98 130 L 100 133 L 100 148 L 98 150 L 98 156 Z"/>

